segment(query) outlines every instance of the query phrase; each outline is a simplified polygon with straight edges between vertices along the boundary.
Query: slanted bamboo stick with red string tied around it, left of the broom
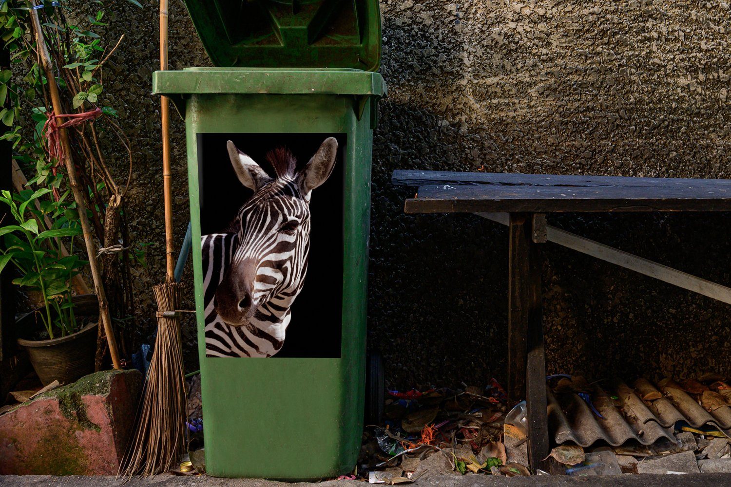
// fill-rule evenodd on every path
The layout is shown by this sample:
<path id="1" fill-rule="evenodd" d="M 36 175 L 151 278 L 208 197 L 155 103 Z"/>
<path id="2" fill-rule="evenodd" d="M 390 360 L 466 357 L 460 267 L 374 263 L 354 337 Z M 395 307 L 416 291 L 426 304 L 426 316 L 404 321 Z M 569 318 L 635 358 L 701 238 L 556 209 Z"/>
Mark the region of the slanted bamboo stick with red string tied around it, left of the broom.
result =
<path id="1" fill-rule="evenodd" d="M 35 4 L 35 0 L 31 0 L 31 7 L 35 7 Z M 43 71 L 46 75 L 46 80 L 48 81 L 48 91 L 50 93 L 51 104 L 53 104 L 53 112 L 56 114 L 63 113 L 64 110 L 63 107 L 61 107 L 61 96 L 58 94 L 56 76 L 53 74 L 53 64 L 50 60 L 50 55 L 48 54 L 48 47 L 45 45 L 45 39 L 43 38 L 43 31 L 41 30 L 38 11 L 31 8 L 30 14 L 33 29 L 36 34 L 36 47 L 43 66 Z M 89 259 L 89 269 L 91 269 L 91 277 L 94 279 L 94 292 L 96 292 L 96 299 L 99 300 L 99 318 L 102 320 L 104 331 L 107 334 L 107 343 L 109 344 L 109 353 L 112 357 L 112 364 L 115 369 L 119 369 L 121 366 L 119 362 L 119 353 L 117 351 L 117 341 L 114 337 L 112 321 L 109 316 L 109 307 L 107 305 L 107 296 L 104 292 L 102 275 L 99 272 L 99 266 L 96 264 L 96 249 L 94 248 L 91 224 L 89 223 L 88 215 L 86 215 L 86 201 L 84 199 L 82 188 L 80 188 L 76 177 L 76 166 L 74 166 L 74 161 L 71 157 L 69 134 L 67 134 L 66 129 L 58 129 L 58 133 L 61 139 L 61 149 L 64 151 L 64 164 L 66 164 L 66 171 L 69 173 L 69 185 L 71 186 L 71 191 L 74 193 L 74 199 L 79 213 L 79 221 L 84 235 L 84 243 L 86 244 L 86 254 Z"/>

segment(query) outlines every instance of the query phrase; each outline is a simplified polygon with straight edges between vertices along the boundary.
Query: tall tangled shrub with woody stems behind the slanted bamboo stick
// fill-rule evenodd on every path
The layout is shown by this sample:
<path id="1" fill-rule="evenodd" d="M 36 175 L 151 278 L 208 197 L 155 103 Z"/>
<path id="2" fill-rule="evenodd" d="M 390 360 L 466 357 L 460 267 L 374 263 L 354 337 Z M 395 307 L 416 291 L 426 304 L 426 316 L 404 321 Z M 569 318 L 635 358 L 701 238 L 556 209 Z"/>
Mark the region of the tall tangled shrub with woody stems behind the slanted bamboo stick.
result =
<path id="1" fill-rule="evenodd" d="M 137 0 L 126 3 L 142 7 Z M 113 42 L 105 40 L 107 23 L 114 18 L 109 15 L 112 6 L 124 8 L 123 2 L 100 0 L 0 0 L 0 43 L 10 52 L 12 64 L 12 69 L 0 69 L 0 124 L 10 128 L 0 140 L 12 144 L 14 163 L 28 176 L 26 188 L 49 188 L 55 197 L 68 188 L 64 158 L 73 161 L 86 200 L 80 207 L 86 206 L 85 216 L 91 223 L 92 231 L 85 237 L 105 250 L 96 258 L 102 282 L 96 278 L 94 282 L 106 296 L 102 299 L 105 310 L 100 303 L 100 312 L 108 306 L 113 320 L 126 322 L 135 316 L 131 267 L 137 245 L 130 242 L 125 212 L 132 144 L 117 110 L 108 106 L 113 98 L 105 69 L 114 62 L 124 39 L 122 35 Z M 33 28 L 35 15 L 38 31 Z M 50 102 L 50 80 L 39 64 L 39 44 L 47 48 L 54 66 L 48 76 L 56 82 L 61 98 L 57 113 Z M 71 153 L 62 158 L 49 143 L 53 140 L 49 128 L 64 123 Z M 126 337 L 119 338 L 126 353 Z M 105 335 L 100 334 L 96 367 L 102 365 L 105 347 Z"/>

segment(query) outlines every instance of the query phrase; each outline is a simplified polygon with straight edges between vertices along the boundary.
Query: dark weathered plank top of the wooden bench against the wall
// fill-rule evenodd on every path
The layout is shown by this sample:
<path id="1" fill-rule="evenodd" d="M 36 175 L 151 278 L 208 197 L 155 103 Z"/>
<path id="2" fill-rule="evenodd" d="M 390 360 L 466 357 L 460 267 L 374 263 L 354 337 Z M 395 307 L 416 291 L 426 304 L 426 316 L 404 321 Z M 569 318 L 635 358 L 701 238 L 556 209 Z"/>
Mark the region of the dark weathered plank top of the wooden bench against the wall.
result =
<path id="1" fill-rule="evenodd" d="M 394 171 L 406 213 L 731 211 L 731 180 Z"/>

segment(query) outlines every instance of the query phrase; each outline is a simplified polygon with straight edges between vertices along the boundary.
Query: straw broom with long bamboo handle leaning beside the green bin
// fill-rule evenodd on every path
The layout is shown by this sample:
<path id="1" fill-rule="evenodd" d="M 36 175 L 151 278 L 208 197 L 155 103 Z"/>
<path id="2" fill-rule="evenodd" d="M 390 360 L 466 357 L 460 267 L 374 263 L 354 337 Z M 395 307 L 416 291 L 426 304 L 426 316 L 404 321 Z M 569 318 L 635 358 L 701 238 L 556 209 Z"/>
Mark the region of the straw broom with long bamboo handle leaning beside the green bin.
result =
<path id="1" fill-rule="evenodd" d="M 167 69 L 167 0 L 160 1 L 160 69 Z M 162 183 L 165 209 L 166 282 L 154 286 L 157 302 L 157 339 L 142 404 L 137 412 L 135 437 L 120 467 L 121 475 L 156 475 L 172 469 L 185 450 L 187 410 L 185 372 L 181 350 L 178 304 L 173 263 L 173 194 L 170 172 L 170 111 L 162 96 Z"/>

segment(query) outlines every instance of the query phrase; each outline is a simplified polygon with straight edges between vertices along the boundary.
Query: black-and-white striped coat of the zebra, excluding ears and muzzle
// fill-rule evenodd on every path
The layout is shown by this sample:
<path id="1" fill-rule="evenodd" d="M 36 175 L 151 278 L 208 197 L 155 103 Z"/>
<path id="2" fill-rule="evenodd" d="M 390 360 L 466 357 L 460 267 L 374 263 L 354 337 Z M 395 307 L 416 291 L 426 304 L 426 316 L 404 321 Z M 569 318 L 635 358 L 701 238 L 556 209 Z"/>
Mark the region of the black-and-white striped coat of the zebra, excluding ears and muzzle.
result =
<path id="1" fill-rule="evenodd" d="M 241 208 L 238 220 L 245 223 L 241 224 L 240 234 L 210 234 L 201 238 L 207 356 L 270 357 L 284 345 L 292 316 L 289 307 L 300 294 L 307 272 L 309 215 L 306 202 L 296 196 L 291 180 L 271 185 Z M 260 211 L 251 211 L 253 207 Z M 298 218 L 304 221 L 300 221 L 295 234 L 275 231 Z M 239 245 L 242 239 L 249 245 Z M 254 257 L 261 261 L 254 299 L 270 299 L 257 309 L 249 325 L 231 326 L 216 312 L 216 288 L 232 263 Z"/>

